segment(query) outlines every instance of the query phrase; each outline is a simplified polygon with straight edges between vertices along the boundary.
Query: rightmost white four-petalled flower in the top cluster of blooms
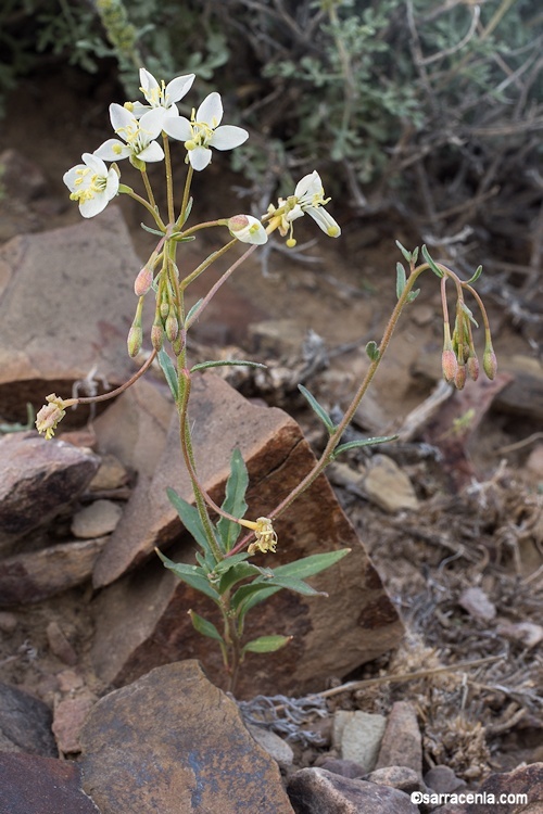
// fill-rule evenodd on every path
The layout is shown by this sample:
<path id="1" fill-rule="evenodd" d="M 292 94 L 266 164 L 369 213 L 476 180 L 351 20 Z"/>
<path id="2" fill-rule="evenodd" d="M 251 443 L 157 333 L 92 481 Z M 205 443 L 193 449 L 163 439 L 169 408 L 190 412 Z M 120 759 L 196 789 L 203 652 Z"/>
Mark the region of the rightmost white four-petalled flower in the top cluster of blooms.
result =
<path id="1" fill-rule="evenodd" d="M 184 141 L 188 158 L 194 169 L 205 169 L 211 162 L 211 150 L 232 150 L 249 138 L 247 130 L 235 125 L 223 125 L 223 102 L 219 93 L 210 93 L 189 122 L 185 116 L 164 119 L 163 129 L 172 138 Z"/>

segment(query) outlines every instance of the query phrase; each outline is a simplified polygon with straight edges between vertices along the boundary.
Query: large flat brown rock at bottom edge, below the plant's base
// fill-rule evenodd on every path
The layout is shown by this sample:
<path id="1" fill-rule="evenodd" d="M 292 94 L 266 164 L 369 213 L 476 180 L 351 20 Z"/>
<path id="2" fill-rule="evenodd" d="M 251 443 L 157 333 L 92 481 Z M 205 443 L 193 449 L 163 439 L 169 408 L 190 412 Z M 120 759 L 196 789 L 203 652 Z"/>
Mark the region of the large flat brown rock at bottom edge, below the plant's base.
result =
<path id="1" fill-rule="evenodd" d="M 101 814 L 292 812 L 277 765 L 195 661 L 102 698 L 80 743 L 83 788 Z"/>

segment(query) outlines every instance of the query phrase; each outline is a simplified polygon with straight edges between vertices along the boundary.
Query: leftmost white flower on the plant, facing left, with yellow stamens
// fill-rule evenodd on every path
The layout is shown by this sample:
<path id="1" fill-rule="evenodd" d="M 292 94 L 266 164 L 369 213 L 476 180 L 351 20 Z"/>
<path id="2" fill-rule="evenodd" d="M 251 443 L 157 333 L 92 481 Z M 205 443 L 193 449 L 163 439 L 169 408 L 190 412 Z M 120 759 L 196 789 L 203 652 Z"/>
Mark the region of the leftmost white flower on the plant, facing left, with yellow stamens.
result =
<path id="1" fill-rule="evenodd" d="M 84 164 L 77 164 L 64 173 L 63 181 L 71 191 L 72 201 L 79 203 L 79 212 L 91 218 L 105 209 L 118 191 L 118 171 L 108 167 L 92 153 L 81 155 Z"/>

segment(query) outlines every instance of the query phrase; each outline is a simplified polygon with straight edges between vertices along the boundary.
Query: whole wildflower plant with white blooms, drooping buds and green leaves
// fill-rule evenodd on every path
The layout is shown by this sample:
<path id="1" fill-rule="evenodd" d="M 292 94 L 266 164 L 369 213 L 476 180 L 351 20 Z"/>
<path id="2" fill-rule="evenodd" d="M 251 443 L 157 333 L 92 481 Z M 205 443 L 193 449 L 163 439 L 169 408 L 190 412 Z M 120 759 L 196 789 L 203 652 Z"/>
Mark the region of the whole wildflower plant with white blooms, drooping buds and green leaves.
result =
<path id="1" fill-rule="evenodd" d="M 257 552 L 273 555 L 280 546 L 280 517 L 294 500 L 321 474 L 328 463 L 338 455 L 355 447 L 389 442 L 391 437 L 375 437 L 342 443 L 344 431 L 366 393 L 390 343 L 401 311 L 417 295 L 414 285 L 425 270 L 432 270 L 441 281 L 444 309 L 443 374 L 457 387 L 464 386 L 467 377 L 476 379 L 479 365 L 473 347 L 472 327 L 476 327 L 471 311 L 465 303 L 465 294 L 475 297 L 482 311 L 487 331 L 487 346 L 483 355 L 483 370 L 490 378 L 495 374 L 496 363 L 484 307 L 472 284 L 480 274 L 477 270 L 468 282 L 443 264 L 437 263 L 422 247 L 424 262 L 417 265 L 418 250 L 408 252 L 399 247 L 408 264 L 406 274 L 402 264 L 397 265 L 397 303 L 390 317 L 380 344 L 369 342 L 366 353 L 370 359 L 368 371 L 339 423 L 332 421 L 328 412 L 305 387 L 300 391 L 311 408 L 323 422 L 328 434 L 326 447 L 314 467 L 277 506 L 269 507 L 266 517 L 249 519 L 245 493 L 249 478 L 245 463 L 235 449 L 230 461 L 230 475 L 222 506 L 206 493 L 199 478 L 199 466 L 192 444 L 188 410 L 191 384 L 200 371 L 223 365 L 256 366 L 245 360 L 204 360 L 190 365 L 187 356 L 187 335 L 195 320 L 201 317 L 209 303 L 241 265 L 260 245 L 266 243 L 269 234 L 277 232 L 286 239 L 288 246 L 295 245 L 294 225 L 305 214 L 315 220 L 328 237 L 339 238 L 340 226 L 326 208 L 329 200 L 325 196 L 323 182 L 316 170 L 304 176 L 291 195 L 270 203 L 261 218 L 253 215 L 236 214 L 215 220 L 191 224 L 191 189 L 194 173 L 203 171 L 215 158 L 214 150 L 233 150 L 242 144 L 249 133 L 241 127 L 223 125 L 223 103 L 216 92 L 209 93 L 189 118 L 181 116 L 176 103 L 191 89 L 194 76 L 179 76 L 167 85 L 159 82 L 147 69 L 140 69 L 140 90 L 143 101 L 126 102 L 124 106 L 112 104 L 110 119 L 115 137 L 106 140 L 93 153 L 84 153 L 83 164 L 77 164 L 64 175 L 64 182 L 71 198 L 79 205 L 84 217 L 93 217 L 102 212 L 117 194 L 125 194 L 144 207 L 152 218 L 152 227 L 144 228 L 156 237 L 156 245 L 148 262 L 135 277 L 134 290 L 138 298 L 135 317 L 128 332 L 127 345 L 131 357 L 142 348 L 144 333 L 148 333 L 152 352 L 137 373 L 117 390 L 102 395 L 72 397 L 63 399 L 54 393 L 47 397 L 36 419 L 36 427 L 46 438 L 52 437 L 58 423 L 68 406 L 104 400 L 117 395 L 139 379 L 154 359 L 157 359 L 171 387 L 179 414 L 179 440 L 182 458 L 190 475 L 194 504 L 182 499 L 174 488 L 168 497 L 179 513 L 187 531 L 192 535 L 198 550 L 195 563 L 173 562 L 161 551 L 159 557 L 182 582 L 205 595 L 215 603 L 222 619 L 219 629 L 210 620 L 194 611 L 190 618 L 194 628 L 204 636 L 217 641 L 224 659 L 225 670 L 233 690 L 237 676 L 247 652 L 270 652 L 290 640 L 289 636 L 270 634 L 253 640 L 244 636 L 247 614 L 260 602 L 281 589 L 290 589 L 305 596 L 316 595 L 306 578 L 330 568 L 349 554 L 343 548 L 325 554 L 315 554 L 301 560 L 276 568 L 262 567 L 252 560 Z M 178 143 L 176 143 L 178 142 Z M 180 200 L 176 201 L 174 190 L 173 151 L 181 150 L 186 165 L 185 186 Z M 128 158 L 139 170 L 142 180 L 142 194 L 121 181 L 117 162 Z M 105 162 L 112 162 L 108 167 Z M 166 212 L 161 213 L 156 204 L 147 163 L 164 163 L 166 190 Z M 225 240 L 212 255 L 195 269 L 184 276 L 178 263 L 178 253 L 184 244 L 197 238 L 205 228 L 222 227 Z M 216 232 L 217 233 L 217 232 Z M 241 257 L 222 275 L 189 310 L 186 308 L 186 292 L 191 283 L 205 274 L 218 257 L 228 254 L 239 243 L 248 244 Z M 453 332 L 449 325 L 445 285 L 451 281 L 456 292 L 456 310 Z M 151 326 L 142 325 L 143 301 L 153 300 L 154 318 Z M 276 521 L 279 521 L 276 531 Z"/>

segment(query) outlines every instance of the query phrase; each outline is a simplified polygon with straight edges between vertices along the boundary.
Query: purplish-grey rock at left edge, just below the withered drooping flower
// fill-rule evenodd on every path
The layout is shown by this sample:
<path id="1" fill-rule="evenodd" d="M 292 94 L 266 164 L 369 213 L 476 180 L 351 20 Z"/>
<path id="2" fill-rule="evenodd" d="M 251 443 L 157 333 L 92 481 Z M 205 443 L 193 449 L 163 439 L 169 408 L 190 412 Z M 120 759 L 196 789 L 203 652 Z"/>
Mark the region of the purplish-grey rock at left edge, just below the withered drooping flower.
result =
<path id="1" fill-rule="evenodd" d="M 0 437 L 0 552 L 75 500 L 98 469 L 88 450 L 36 433 Z"/>

